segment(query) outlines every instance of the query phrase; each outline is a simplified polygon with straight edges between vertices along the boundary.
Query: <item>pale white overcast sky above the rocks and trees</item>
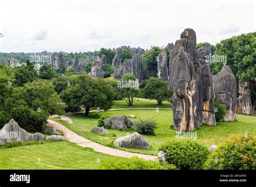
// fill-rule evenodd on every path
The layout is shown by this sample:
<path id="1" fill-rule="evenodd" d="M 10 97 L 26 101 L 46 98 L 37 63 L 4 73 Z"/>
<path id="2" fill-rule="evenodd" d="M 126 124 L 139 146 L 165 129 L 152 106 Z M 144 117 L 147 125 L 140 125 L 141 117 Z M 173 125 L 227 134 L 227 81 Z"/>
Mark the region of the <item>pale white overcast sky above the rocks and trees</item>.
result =
<path id="1" fill-rule="evenodd" d="M 3 1 L 0 52 L 86 52 L 122 45 L 166 46 L 193 28 L 217 44 L 255 32 L 255 2 Z"/>

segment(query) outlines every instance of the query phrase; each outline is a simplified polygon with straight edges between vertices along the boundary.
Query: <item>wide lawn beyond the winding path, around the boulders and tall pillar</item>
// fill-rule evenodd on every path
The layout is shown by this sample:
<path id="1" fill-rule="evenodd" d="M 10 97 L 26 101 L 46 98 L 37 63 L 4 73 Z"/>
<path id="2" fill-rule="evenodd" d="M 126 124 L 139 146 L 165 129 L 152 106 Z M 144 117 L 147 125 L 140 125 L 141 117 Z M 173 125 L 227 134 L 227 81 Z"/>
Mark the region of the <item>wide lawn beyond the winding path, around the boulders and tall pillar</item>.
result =
<path id="1" fill-rule="evenodd" d="M 157 121 L 158 128 L 156 130 L 156 136 L 143 135 L 144 138 L 150 143 L 150 150 L 143 149 L 133 149 L 133 148 L 120 148 L 128 150 L 130 152 L 144 153 L 144 154 L 154 154 L 158 152 L 159 146 L 167 140 L 175 138 L 174 130 L 169 128 L 172 123 L 172 110 L 120 110 L 120 111 L 107 111 L 107 112 L 91 112 L 89 117 L 83 115 L 80 116 L 70 116 L 74 121 L 74 124 L 70 125 L 58 118 L 52 118 L 68 127 L 70 130 L 76 132 L 77 134 L 84 136 L 87 139 L 98 142 L 102 145 L 113 147 L 112 142 L 127 133 L 133 133 L 133 130 L 118 131 L 118 130 L 107 130 L 109 133 L 115 133 L 117 137 L 110 137 L 106 135 L 99 135 L 97 133 L 91 132 L 92 127 L 97 126 L 97 120 L 93 116 L 99 113 L 100 116 L 105 116 L 110 118 L 113 116 L 118 116 L 121 114 L 135 115 L 137 118 L 133 120 L 138 120 L 139 118 L 148 119 L 154 117 Z M 217 123 L 217 126 L 201 126 L 200 130 L 197 130 L 197 142 L 201 143 L 206 147 L 210 147 L 212 144 L 219 145 L 224 139 L 228 138 L 232 134 L 237 133 L 252 133 L 256 134 L 256 117 L 253 116 L 237 116 L 238 120 L 226 123 Z"/>

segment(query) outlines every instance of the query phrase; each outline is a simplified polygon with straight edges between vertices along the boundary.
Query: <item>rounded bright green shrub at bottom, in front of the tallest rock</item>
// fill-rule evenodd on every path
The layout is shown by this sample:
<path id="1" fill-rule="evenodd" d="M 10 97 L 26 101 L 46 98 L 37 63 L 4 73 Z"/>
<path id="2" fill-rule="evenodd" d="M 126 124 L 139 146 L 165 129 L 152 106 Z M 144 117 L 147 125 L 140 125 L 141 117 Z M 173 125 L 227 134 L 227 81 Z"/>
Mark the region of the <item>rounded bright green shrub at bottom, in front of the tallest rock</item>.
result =
<path id="1" fill-rule="evenodd" d="M 202 169 L 208 155 L 206 147 L 186 139 L 167 141 L 159 150 L 163 150 L 166 161 L 178 169 Z"/>

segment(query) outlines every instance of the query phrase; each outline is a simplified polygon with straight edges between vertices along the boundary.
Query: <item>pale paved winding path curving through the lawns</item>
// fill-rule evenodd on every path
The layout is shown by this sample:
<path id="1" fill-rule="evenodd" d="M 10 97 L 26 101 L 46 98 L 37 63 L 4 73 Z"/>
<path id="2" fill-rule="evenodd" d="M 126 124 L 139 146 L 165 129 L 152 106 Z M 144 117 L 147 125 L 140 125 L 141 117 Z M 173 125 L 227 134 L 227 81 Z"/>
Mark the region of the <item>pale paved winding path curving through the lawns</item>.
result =
<path id="1" fill-rule="evenodd" d="M 111 147 L 100 145 L 99 143 L 88 140 L 88 139 L 76 134 L 75 132 L 69 130 L 64 125 L 57 123 L 56 121 L 53 121 L 50 119 L 48 119 L 48 126 L 55 127 L 56 130 L 62 131 L 64 134 L 64 138 L 69 140 L 70 142 L 76 143 L 77 145 L 82 146 L 82 147 L 90 147 L 93 150 L 95 150 L 96 152 L 105 153 L 105 154 L 113 155 L 113 156 L 125 157 L 125 158 L 130 158 L 132 156 L 138 156 L 145 160 L 157 159 L 157 156 L 154 156 L 154 155 L 131 153 L 131 152 L 126 152 L 125 150 L 119 150 L 119 149 L 114 149 Z"/>

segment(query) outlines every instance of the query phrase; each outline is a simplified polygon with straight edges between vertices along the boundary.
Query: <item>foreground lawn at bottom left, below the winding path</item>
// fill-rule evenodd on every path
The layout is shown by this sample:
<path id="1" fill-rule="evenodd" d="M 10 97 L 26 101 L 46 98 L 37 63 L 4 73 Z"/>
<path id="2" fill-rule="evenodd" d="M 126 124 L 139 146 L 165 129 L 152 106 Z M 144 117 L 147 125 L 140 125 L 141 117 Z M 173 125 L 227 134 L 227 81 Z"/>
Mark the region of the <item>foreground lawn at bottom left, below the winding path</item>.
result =
<path id="1" fill-rule="evenodd" d="M 114 157 L 68 141 L 4 148 L 0 155 L 0 169 L 95 169 Z"/>

